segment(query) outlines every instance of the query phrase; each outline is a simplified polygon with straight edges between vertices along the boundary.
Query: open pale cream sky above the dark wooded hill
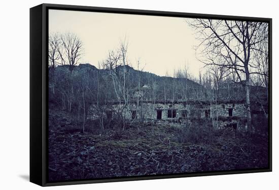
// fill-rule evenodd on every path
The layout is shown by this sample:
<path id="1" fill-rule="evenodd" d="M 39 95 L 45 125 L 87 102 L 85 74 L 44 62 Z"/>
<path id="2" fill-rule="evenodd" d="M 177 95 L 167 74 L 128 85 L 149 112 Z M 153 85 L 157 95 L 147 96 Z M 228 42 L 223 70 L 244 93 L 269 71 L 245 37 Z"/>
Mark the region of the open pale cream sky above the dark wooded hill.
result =
<path id="1" fill-rule="evenodd" d="M 172 75 L 185 64 L 198 76 L 203 67 L 195 58 L 193 45 L 198 42 L 185 18 L 49 10 L 49 32 L 75 33 L 83 43 L 81 63 L 96 67 L 125 36 L 127 56 L 134 68 L 138 58 L 144 71 L 160 76 L 166 72 Z"/>

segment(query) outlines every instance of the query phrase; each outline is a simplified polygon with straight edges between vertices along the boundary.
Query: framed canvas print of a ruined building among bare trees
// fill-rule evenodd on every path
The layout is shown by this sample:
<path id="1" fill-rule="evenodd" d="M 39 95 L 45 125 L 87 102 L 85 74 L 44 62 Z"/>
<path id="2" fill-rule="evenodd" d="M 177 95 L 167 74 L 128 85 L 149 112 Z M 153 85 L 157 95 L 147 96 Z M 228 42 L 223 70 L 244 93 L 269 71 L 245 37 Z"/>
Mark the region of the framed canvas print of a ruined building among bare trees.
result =
<path id="1" fill-rule="evenodd" d="M 30 181 L 271 171 L 271 19 L 30 9 Z"/>

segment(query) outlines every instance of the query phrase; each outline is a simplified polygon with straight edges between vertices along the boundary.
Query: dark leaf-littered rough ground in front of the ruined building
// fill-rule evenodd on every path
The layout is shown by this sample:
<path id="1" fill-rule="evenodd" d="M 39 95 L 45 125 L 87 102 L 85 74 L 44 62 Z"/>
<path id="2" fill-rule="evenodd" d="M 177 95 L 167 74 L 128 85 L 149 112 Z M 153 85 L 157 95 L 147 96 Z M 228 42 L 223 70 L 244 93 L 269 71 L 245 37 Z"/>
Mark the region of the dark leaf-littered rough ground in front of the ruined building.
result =
<path id="1" fill-rule="evenodd" d="M 219 130 L 210 141 L 191 143 L 182 141 L 181 129 L 169 124 L 83 134 L 62 129 L 68 118 L 57 118 L 49 118 L 50 181 L 268 167 L 264 135 Z"/>

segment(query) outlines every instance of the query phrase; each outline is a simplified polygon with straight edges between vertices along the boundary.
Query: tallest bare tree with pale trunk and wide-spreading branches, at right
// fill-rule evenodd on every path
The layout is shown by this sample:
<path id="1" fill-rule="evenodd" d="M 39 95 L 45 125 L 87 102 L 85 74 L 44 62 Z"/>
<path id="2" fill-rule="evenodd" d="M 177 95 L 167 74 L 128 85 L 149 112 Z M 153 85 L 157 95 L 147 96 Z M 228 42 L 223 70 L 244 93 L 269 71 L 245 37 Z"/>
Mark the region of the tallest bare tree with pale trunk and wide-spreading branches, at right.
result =
<path id="1" fill-rule="evenodd" d="M 248 130 L 252 131 L 250 108 L 250 75 L 253 68 L 252 50 L 258 51 L 262 41 L 261 27 L 267 23 L 194 19 L 188 22 L 195 28 L 200 44 L 196 47 L 199 60 L 206 65 L 217 65 L 245 74 L 245 97 Z M 217 62 L 222 57 L 224 62 Z"/>

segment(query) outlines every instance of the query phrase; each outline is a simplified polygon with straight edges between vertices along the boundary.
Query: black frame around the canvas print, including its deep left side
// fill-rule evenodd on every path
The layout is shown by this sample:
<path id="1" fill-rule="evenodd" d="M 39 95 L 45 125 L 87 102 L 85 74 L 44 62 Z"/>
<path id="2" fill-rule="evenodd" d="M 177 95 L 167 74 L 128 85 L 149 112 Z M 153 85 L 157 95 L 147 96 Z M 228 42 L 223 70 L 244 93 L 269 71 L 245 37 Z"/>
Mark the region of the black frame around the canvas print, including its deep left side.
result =
<path id="1" fill-rule="evenodd" d="M 104 13 L 122 13 L 136 15 L 155 15 L 188 18 L 212 18 L 226 20 L 250 20 L 269 24 L 269 166 L 264 169 L 196 172 L 173 175 L 149 175 L 135 177 L 115 177 L 92 180 L 48 181 L 48 10 L 76 10 Z M 178 177 L 225 175 L 272 171 L 272 19 L 241 16 L 208 15 L 164 11 L 116 9 L 73 5 L 42 4 L 30 8 L 30 181 L 41 186 L 99 183 L 113 181 L 132 181 L 146 179 L 165 179 Z"/>

